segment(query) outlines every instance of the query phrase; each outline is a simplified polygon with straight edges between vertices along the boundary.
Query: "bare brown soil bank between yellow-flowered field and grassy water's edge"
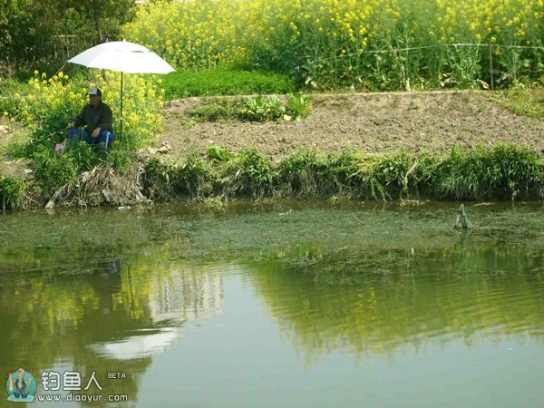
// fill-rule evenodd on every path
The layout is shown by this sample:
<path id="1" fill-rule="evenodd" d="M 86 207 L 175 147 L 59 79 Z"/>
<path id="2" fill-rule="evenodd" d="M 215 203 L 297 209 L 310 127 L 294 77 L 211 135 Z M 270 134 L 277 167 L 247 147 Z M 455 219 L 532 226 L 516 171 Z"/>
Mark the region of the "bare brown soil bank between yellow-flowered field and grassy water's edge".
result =
<path id="1" fill-rule="evenodd" d="M 544 121 L 505 109 L 491 92 L 393 92 L 316 95 L 299 122 L 195 122 L 189 110 L 203 100 L 168 102 L 160 142 L 170 156 L 199 151 L 213 141 L 230 151 L 254 145 L 273 157 L 298 147 L 369 153 L 449 151 L 497 141 L 529 146 L 544 155 Z"/>

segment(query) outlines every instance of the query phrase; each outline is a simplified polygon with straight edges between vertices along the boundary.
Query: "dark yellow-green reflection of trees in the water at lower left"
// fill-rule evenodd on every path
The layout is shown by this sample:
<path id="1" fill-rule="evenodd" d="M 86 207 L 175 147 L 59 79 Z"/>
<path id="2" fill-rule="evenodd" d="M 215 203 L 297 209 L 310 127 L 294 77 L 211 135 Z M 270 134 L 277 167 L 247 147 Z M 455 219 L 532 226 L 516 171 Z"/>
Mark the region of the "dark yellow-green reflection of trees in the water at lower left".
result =
<path id="1" fill-rule="evenodd" d="M 121 276 L 103 269 L 79 276 L 12 275 L 2 283 L 0 324 L 7 336 L 0 338 L 0 353 L 6 366 L 32 367 L 36 378 L 58 364 L 81 372 L 85 379 L 96 371 L 105 391 L 135 395 L 138 374 L 145 372 L 150 359 L 110 361 L 87 348 L 150 324 L 142 306 L 139 317 L 133 318 L 131 302 L 116 296 Z M 108 371 L 126 372 L 128 378 L 113 385 Z"/>

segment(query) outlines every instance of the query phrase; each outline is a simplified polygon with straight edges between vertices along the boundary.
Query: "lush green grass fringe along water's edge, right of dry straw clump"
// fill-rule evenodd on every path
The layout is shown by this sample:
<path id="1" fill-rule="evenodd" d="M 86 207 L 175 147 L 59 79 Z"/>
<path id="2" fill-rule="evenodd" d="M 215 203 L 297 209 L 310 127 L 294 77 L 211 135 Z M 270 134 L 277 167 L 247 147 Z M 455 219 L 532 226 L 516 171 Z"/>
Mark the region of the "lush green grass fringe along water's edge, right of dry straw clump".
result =
<path id="1" fill-rule="evenodd" d="M 146 166 L 145 179 L 148 189 L 160 191 L 155 197 L 165 200 L 544 199 L 544 166 L 536 152 L 502 144 L 455 148 L 447 156 L 295 151 L 279 162 L 249 147 L 228 160 L 198 154 L 182 164 L 153 160 Z"/>

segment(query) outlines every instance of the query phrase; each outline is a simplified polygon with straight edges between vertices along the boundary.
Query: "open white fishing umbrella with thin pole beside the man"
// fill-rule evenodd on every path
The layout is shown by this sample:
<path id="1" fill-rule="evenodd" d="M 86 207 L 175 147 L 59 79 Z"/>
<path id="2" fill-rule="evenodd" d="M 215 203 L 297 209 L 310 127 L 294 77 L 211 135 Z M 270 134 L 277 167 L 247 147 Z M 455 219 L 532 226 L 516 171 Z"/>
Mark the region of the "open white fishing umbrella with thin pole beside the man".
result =
<path id="1" fill-rule="evenodd" d="M 121 72 L 121 129 L 122 134 L 122 73 L 172 73 L 174 70 L 169 63 L 140 44 L 128 41 L 102 43 L 78 53 L 69 63 L 77 63 L 88 68 Z"/>

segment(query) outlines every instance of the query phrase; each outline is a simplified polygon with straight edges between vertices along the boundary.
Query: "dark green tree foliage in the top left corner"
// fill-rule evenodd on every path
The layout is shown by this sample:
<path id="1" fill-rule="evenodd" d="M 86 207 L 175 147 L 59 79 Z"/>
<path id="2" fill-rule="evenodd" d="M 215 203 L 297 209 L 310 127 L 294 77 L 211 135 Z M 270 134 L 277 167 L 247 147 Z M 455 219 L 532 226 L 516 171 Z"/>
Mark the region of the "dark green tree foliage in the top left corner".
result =
<path id="1" fill-rule="evenodd" d="M 58 65 L 115 40 L 135 7 L 132 0 L 0 0 L 0 73 Z"/>

